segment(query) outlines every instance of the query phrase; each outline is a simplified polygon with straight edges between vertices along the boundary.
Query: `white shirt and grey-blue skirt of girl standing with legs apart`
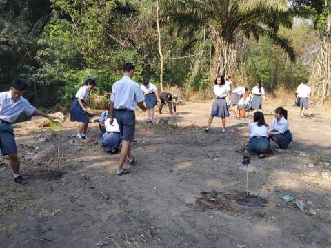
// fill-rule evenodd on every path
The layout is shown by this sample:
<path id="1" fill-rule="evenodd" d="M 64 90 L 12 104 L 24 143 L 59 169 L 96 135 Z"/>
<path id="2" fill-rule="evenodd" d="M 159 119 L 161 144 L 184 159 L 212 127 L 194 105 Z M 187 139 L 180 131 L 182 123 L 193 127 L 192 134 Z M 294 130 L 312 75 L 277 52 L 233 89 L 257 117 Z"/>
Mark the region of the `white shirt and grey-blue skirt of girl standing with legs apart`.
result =
<path id="1" fill-rule="evenodd" d="M 214 85 L 214 94 L 216 99 L 212 103 L 212 113 L 214 117 L 229 117 L 228 104 L 226 102 L 226 96 L 231 91 L 229 85 Z"/>

